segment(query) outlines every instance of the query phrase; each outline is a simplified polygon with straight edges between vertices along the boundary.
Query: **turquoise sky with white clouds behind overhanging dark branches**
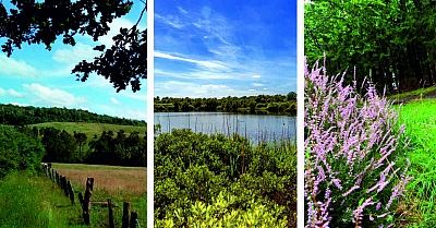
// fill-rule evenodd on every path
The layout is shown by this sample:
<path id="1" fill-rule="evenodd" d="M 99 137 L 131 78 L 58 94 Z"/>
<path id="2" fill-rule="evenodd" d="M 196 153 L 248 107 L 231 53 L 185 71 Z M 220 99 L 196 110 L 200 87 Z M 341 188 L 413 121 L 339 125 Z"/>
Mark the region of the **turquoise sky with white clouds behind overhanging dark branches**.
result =
<path id="1" fill-rule="evenodd" d="M 62 36 L 52 45 L 51 51 L 44 45 L 25 45 L 15 49 L 10 58 L 0 51 L 0 103 L 36 107 L 66 107 L 85 109 L 96 113 L 114 117 L 146 120 L 146 80 L 140 92 L 133 93 L 129 87 L 117 93 L 112 84 L 104 76 L 92 74 L 86 82 L 76 82 L 71 70 L 83 59 L 93 60 L 99 56 L 93 47 L 104 44 L 112 46 L 112 36 L 120 27 L 132 27 L 140 19 L 144 4 L 133 0 L 131 12 L 114 20 L 108 35 L 97 43 L 92 37 L 76 36 L 74 47 L 63 45 Z M 13 7 L 3 1 L 7 9 Z M 146 28 L 146 13 L 138 28 Z M 3 45 L 5 38 L 0 38 Z"/>

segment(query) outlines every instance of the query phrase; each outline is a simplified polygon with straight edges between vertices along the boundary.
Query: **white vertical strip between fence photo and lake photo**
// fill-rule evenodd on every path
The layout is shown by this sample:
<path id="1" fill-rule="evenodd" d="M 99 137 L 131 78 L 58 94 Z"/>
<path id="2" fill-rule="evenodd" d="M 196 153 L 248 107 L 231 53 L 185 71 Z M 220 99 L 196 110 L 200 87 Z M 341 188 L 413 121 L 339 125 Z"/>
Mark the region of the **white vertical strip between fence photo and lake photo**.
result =
<path id="1" fill-rule="evenodd" d="M 154 71 L 155 2 L 147 1 L 147 227 L 154 227 Z M 148 59 L 148 57 L 150 57 Z"/>

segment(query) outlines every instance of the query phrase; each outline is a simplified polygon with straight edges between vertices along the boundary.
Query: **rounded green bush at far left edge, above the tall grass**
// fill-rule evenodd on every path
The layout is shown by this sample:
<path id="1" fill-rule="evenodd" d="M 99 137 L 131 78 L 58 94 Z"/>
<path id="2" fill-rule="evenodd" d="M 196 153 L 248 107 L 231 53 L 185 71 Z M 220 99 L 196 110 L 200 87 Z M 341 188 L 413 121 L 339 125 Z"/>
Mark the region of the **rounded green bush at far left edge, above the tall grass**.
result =
<path id="1" fill-rule="evenodd" d="M 45 154 L 39 140 L 0 125 L 0 178 L 13 170 L 39 170 Z"/>

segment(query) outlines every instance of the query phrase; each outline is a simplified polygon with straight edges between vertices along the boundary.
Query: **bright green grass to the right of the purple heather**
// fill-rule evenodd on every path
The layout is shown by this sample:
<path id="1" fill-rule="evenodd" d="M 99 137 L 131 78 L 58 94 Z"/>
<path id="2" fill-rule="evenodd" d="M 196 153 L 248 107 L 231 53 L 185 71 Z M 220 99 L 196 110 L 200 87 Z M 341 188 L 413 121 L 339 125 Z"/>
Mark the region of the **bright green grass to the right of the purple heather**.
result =
<path id="1" fill-rule="evenodd" d="M 405 197 L 408 227 L 436 227 L 436 99 L 420 99 L 397 107 L 400 122 L 407 125 L 412 149 Z"/>

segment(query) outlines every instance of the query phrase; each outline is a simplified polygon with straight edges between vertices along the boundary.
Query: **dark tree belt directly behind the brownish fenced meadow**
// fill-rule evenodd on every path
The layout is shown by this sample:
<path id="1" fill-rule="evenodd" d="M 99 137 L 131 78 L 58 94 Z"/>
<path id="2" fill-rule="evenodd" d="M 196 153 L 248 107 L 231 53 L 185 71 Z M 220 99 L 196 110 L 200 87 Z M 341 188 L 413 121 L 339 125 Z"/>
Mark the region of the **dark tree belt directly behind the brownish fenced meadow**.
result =
<path id="1" fill-rule="evenodd" d="M 102 131 L 101 135 L 87 139 L 86 134 L 56 128 L 15 127 L 16 131 L 40 141 L 45 163 L 84 163 L 112 166 L 146 166 L 147 136 L 140 132 L 129 135 L 120 130 Z"/>

